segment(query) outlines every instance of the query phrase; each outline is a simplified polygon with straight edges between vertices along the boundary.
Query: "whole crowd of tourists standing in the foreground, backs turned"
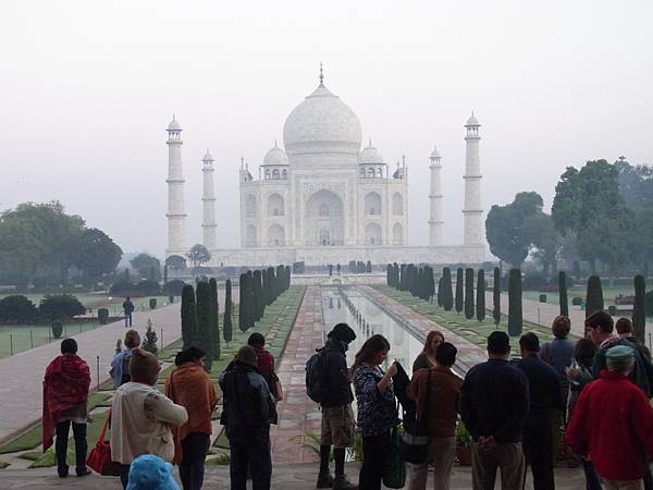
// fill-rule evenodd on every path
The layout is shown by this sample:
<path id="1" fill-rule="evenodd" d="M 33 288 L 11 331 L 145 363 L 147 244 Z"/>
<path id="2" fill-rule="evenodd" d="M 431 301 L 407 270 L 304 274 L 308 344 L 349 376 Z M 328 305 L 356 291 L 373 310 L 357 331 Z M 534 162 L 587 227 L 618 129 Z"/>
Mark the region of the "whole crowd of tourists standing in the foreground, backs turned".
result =
<path id="1" fill-rule="evenodd" d="M 508 335 L 494 331 L 488 338 L 488 360 L 465 378 L 452 370 L 456 346 L 433 331 L 409 379 L 397 362 L 387 362 L 391 345 L 381 334 L 369 336 L 348 366 L 346 353 L 356 333 L 346 323 L 334 326 L 306 368 L 307 393 L 322 416 L 317 488 L 380 490 L 399 454 L 410 461 L 405 488 L 426 490 L 431 478 L 435 490 L 448 489 L 456 434 L 466 429 L 475 490 L 494 489 L 497 470 L 502 489 L 523 489 L 529 467 L 534 490 L 554 489 L 556 464 L 582 466 L 587 490 L 653 489 L 651 354 L 633 336 L 630 320 L 619 319 L 614 330 L 612 317 L 597 311 L 586 320 L 586 338 L 574 342 L 569 319 L 560 316 L 551 342 L 540 344 L 534 333 L 525 333 L 514 359 Z M 278 422 L 283 391 L 264 336 L 251 334 L 237 351 L 219 377 L 221 394 L 197 346 L 176 355 L 162 393 L 157 388 L 161 365 L 139 344 L 138 333 L 130 330 L 126 348 L 111 363 L 116 390 L 107 415 L 110 461 L 104 463 L 123 488 L 178 489 L 173 463 L 184 490 L 200 489 L 222 396 L 231 489 L 245 490 L 251 480 L 254 490 L 269 490 L 270 425 Z M 99 444 L 86 460 L 89 384 L 75 340 L 65 339 L 46 371 L 42 417 L 44 450 L 56 440 L 62 478 L 69 476 L 71 426 L 76 475 L 90 474 L 91 461 L 97 465 L 100 460 Z M 403 438 L 397 431 L 402 420 Z M 356 433 L 362 456 L 358 483 L 345 474 Z"/>

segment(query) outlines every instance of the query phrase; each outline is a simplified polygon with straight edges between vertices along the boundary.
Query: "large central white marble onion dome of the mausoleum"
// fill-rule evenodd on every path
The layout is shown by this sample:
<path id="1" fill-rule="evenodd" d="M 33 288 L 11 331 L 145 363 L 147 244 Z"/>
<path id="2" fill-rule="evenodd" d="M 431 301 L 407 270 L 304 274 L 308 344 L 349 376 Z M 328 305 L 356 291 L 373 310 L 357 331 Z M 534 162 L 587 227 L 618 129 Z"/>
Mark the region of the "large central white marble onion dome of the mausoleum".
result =
<path id="1" fill-rule="evenodd" d="M 321 152 L 358 155 L 360 139 L 358 117 L 323 85 L 291 112 L 283 126 L 283 145 L 289 156 Z"/>

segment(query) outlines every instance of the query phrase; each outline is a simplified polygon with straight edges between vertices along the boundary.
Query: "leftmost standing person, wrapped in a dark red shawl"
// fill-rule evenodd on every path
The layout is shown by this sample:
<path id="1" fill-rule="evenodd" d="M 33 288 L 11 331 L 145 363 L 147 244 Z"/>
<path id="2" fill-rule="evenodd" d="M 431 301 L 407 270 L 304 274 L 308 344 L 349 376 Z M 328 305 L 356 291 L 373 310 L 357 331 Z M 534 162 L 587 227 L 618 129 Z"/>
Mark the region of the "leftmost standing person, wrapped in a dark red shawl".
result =
<path id="1" fill-rule="evenodd" d="M 44 378 L 44 452 L 52 445 L 52 436 L 57 433 L 54 450 L 57 471 L 61 478 L 69 475 L 65 456 L 71 424 L 75 439 L 75 473 L 77 476 L 90 474 L 86 467 L 88 387 L 90 370 L 86 362 L 77 356 L 77 342 L 65 339 L 61 342 L 61 355 L 48 365 Z"/>

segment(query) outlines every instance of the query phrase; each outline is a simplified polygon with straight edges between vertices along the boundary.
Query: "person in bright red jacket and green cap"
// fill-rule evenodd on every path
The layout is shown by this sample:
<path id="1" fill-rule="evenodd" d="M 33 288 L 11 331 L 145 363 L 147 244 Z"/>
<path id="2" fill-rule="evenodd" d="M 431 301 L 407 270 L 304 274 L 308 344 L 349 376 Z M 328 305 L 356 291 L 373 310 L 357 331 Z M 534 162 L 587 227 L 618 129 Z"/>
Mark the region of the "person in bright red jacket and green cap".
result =
<path id="1" fill-rule="evenodd" d="M 653 408 L 628 375 L 634 352 L 609 348 L 607 369 L 580 393 L 565 442 L 577 454 L 589 454 L 605 488 L 643 489 L 644 454 L 653 453 Z"/>

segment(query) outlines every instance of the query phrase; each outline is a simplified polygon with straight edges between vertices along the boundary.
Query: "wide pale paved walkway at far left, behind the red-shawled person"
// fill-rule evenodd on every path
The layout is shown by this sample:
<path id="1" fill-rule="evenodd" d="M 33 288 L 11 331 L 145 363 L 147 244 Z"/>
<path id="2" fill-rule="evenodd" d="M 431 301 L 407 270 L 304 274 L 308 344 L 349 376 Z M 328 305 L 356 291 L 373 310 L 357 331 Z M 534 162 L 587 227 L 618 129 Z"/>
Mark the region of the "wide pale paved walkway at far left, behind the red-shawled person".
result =
<path id="1" fill-rule="evenodd" d="M 163 329 L 163 342 L 170 344 L 181 336 L 178 311 L 178 303 L 149 311 L 136 311 L 133 328 L 143 335 L 146 321 L 151 319 L 157 335 L 160 338 Z M 124 340 L 124 335 L 122 320 L 74 335 L 79 356 L 90 367 L 91 388 L 97 387 L 98 381 L 102 383 L 109 380 L 115 342 L 118 339 Z M 52 342 L 0 359 L 0 443 L 40 420 L 44 373 L 48 364 L 60 354 L 60 342 Z"/>

